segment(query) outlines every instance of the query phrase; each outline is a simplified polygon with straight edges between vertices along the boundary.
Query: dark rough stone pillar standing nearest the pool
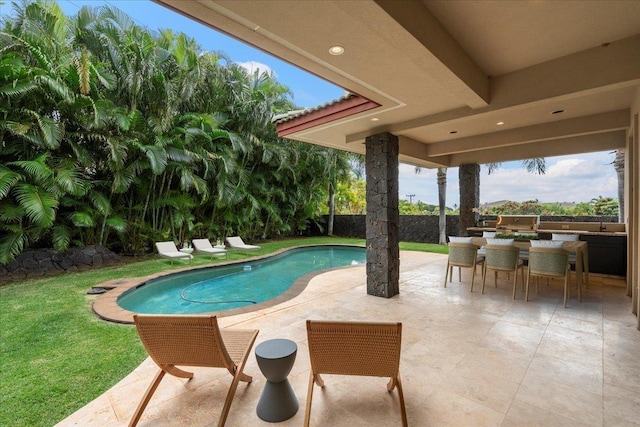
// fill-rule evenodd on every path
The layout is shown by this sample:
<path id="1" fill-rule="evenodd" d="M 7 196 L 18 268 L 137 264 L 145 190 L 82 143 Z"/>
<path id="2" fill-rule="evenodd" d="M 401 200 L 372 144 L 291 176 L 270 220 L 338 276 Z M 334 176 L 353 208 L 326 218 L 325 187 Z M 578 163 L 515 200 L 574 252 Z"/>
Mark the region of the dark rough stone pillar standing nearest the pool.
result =
<path id="1" fill-rule="evenodd" d="M 390 298 L 400 293 L 398 137 L 366 138 L 367 294 Z"/>

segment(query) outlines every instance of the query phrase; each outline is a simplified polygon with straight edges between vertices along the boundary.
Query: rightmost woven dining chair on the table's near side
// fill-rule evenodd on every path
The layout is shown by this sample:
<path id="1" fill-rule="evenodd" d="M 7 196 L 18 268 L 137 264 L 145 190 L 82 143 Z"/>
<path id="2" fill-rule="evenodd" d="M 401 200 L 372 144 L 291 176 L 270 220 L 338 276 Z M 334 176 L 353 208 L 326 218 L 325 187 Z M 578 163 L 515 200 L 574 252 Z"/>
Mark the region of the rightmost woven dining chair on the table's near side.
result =
<path id="1" fill-rule="evenodd" d="M 529 273 L 525 290 L 525 300 L 529 301 L 531 277 L 564 278 L 564 306 L 569 297 L 569 251 L 562 248 L 529 249 Z M 538 291 L 536 282 L 536 292 Z"/>

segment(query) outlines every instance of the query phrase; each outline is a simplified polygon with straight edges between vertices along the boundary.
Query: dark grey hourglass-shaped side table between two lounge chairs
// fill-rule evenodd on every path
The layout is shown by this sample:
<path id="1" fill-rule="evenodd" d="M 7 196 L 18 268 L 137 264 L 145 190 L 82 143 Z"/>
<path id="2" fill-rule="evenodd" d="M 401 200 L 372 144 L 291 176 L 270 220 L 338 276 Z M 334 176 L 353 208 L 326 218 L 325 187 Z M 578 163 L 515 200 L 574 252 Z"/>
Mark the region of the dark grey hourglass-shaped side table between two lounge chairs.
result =
<path id="1" fill-rule="evenodd" d="M 256 360 L 267 383 L 256 412 L 264 421 L 277 423 L 298 412 L 296 397 L 287 376 L 296 360 L 298 346 L 287 339 L 273 339 L 256 346 Z"/>

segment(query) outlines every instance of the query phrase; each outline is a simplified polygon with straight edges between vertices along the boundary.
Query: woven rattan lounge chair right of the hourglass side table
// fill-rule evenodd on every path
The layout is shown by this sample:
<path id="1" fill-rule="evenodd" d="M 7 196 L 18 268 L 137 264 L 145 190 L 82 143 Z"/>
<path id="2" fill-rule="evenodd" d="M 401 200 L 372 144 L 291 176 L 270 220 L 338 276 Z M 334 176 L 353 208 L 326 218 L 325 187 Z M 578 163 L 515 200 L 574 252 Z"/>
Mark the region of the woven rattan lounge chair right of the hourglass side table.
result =
<path id="1" fill-rule="evenodd" d="M 398 387 L 402 425 L 407 412 L 400 383 L 401 323 L 324 322 L 307 320 L 311 373 L 305 427 L 311 418 L 313 384 L 324 387 L 320 374 L 388 377 L 387 390 Z"/>

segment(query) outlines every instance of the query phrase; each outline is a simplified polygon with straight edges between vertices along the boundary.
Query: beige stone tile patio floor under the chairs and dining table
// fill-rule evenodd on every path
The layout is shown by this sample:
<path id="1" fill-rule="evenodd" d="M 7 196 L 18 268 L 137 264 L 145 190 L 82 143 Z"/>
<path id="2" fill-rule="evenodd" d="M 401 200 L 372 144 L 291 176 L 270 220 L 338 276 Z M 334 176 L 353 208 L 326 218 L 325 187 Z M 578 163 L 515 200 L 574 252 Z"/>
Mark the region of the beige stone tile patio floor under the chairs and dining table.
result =
<path id="1" fill-rule="evenodd" d="M 640 425 L 640 332 L 619 278 L 591 275 L 583 302 L 562 307 L 562 286 L 541 284 L 525 302 L 510 281 L 469 292 L 471 274 L 444 288 L 446 255 L 402 252 L 400 295 L 366 295 L 365 267 L 313 278 L 295 298 L 219 319 L 222 327 L 257 328 L 298 344 L 289 380 L 300 410 L 279 426 L 301 426 L 309 375 L 306 319 L 401 321 L 400 363 L 410 426 Z M 573 279 L 573 277 L 572 277 Z M 58 426 L 127 425 L 157 368 L 146 359 L 103 395 Z M 217 425 L 231 376 L 195 369 L 190 381 L 166 376 L 139 426 Z M 265 379 L 255 356 L 240 383 L 227 426 L 267 426 L 256 415 Z M 400 425 L 397 393 L 381 378 L 325 376 L 314 393 L 315 426 Z"/>

